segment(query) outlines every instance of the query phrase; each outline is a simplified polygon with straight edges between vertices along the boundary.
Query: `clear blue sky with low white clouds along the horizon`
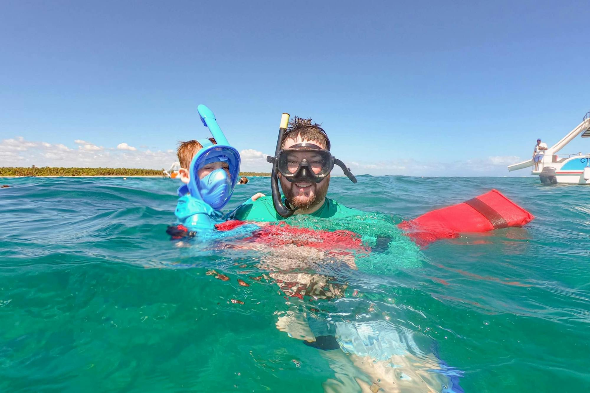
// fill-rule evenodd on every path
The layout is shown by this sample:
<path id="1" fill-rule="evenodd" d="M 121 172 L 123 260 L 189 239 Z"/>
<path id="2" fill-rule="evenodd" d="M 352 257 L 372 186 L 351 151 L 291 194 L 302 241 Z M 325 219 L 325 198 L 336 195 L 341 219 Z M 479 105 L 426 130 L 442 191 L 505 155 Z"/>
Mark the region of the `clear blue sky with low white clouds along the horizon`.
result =
<path id="1" fill-rule="evenodd" d="M 206 104 L 242 170 L 289 112 L 358 174 L 507 176 L 590 109 L 590 3 L 461 3 L 2 2 L 0 165 L 168 167 Z"/>

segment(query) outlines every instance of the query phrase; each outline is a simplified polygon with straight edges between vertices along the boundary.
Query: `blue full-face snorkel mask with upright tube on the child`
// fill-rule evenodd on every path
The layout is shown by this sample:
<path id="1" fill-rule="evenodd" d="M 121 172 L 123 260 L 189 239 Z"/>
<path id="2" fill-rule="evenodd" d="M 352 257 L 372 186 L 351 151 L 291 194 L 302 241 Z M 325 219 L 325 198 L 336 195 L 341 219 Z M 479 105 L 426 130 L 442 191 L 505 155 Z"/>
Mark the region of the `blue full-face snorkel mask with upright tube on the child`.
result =
<path id="1" fill-rule="evenodd" d="M 186 189 L 184 187 L 179 189 L 179 194 L 188 191 L 192 197 L 200 198 L 213 209 L 219 210 L 230 202 L 231 194 L 234 193 L 240 174 L 240 153 L 235 147 L 230 146 L 213 112 L 205 105 L 199 105 L 197 110 L 203 125 L 209 128 L 217 144 L 211 143 L 208 139 L 198 140 L 203 148 L 192 159 L 189 168 L 191 180 Z M 228 175 L 225 169 L 219 168 L 211 171 L 203 179 L 199 179 L 199 169 L 216 162 L 227 163 L 230 174 Z"/>

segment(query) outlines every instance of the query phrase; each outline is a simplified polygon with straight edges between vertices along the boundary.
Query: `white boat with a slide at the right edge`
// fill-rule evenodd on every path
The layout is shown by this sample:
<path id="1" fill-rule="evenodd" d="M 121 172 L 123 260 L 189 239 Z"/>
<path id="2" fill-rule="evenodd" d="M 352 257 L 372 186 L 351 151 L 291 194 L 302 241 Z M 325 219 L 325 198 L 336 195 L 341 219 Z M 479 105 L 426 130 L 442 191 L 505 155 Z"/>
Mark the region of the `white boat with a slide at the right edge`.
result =
<path id="1" fill-rule="evenodd" d="M 533 168 L 531 174 L 539 176 L 543 184 L 590 184 L 590 154 L 557 154 L 580 134 L 582 134 L 582 138 L 590 137 L 590 111 L 586 113 L 578 127 L 545 151 L 543 158 L 539 161 L 539 166 Z M 531 158 L 522 161 L 522 163 L 508 166 L 508 170 L 513 171 L 534 166 L 535 162 Z"/>

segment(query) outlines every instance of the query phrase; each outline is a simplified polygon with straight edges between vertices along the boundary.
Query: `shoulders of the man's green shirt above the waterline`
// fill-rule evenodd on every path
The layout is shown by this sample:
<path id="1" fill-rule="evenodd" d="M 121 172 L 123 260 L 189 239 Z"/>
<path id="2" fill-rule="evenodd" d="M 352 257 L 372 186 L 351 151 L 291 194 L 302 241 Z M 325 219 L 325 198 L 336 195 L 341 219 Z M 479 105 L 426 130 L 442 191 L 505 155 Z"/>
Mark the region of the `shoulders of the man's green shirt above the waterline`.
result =
<path id="1" fill-rule="evenodd" d="M 339 204 L 333 199 L 326 198 L 322 207 L 317 209 L 315 212 L 306 214 L 308 217 L 317 217 L 321 219 L 340 219 L 349 216 L 359 216 L 366 214 L 360 210 L 351 209 L 343 204 Z M 291 216 L 293 217 L 293 216 Z M 273 198 L 271 196 L 260 197 L 257 200 L 248 201 L 242 204 L 234 213 L 231 214 L 231 218 L 236 220 L 248 220 L 258 222 L 273 222 L 286 220 L 279 216 L 274 210 Z M 287 219 L 288 220 L 288 219 Z"/>

